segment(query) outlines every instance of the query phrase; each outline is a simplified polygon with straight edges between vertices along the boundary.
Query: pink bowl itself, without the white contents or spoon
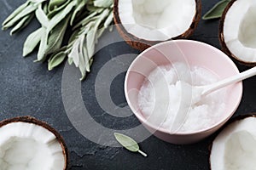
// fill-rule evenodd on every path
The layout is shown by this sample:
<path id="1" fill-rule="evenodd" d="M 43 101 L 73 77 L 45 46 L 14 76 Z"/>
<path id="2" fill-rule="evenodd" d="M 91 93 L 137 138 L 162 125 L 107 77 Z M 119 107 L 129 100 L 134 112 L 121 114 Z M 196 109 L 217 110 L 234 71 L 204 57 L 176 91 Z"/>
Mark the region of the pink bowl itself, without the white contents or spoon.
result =
<path id="1" fill-rule="evenodd" d="M 172 144 L 191 144 L 206 138 L 222 127 L 236 111 L 241 102 L 242 83 L 238 82 L 227 87 L 226 107 L 220 121 L 211 127 L 190 133 L 170 133 L 168 130 L 154 126 L 147 122 L 140 111 L 137 102 L 137 93 L 140 90 L 145 77 L 157 65 L 171 65 L 174 62 L 184 62 L 188 65 L 197 65 L 207 68 L 218 75 L 219 79 L 234 76 L 239 73 L 233 61 L 218 48 L 214 48 L 203 42 L 191 40 L 173 40 L 161 42 L 139 54 L 125 77 L 125 98 L 131 111 L 137 116 L 143 126 L 156 137 Z"/>

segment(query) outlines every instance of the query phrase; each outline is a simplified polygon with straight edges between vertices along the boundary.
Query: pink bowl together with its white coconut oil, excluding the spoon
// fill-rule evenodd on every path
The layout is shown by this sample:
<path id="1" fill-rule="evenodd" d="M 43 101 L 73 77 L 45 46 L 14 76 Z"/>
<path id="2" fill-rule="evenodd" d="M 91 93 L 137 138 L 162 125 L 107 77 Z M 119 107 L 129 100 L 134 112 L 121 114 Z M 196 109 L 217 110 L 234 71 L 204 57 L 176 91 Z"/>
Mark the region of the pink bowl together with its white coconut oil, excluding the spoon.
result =
<path id="1" fill-rule="evenodd" d="M 172 144 L 191 144 L 230 119 L 240 104 L 242 84 L 231 84 L 191 105 L 187 95 L 191 92 L 181 90 L 178 82 L 205 85 L 238 73 L 234 62 L 211 45 L 192 40 L 161 42 L 132 62 L 125 77 L 125 98 L 150 133 Z"/>

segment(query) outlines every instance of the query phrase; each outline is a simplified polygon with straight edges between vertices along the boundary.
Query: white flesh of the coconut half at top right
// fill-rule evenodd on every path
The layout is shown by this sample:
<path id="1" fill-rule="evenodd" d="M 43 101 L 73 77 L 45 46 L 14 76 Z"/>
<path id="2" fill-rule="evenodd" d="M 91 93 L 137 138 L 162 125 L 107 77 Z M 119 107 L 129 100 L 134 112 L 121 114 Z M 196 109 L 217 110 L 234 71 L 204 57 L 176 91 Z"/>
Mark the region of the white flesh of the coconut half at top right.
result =
<path id="1" fill-rule="evenodd" d="M 256 1 L 237 0 L 224 19 L 224 42 L 244 62 L 256 62 Z"/>

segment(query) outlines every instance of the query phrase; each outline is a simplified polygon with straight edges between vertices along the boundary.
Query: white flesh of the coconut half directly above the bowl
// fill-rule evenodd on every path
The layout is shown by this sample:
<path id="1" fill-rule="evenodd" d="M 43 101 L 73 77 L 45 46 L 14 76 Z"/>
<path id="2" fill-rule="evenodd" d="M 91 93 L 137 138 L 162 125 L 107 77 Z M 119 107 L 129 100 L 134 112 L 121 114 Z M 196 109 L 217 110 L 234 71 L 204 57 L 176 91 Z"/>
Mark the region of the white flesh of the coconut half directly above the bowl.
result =
<path id="1" fill-rule="evenodd" d="M 195 0 L 119 0 L 125 30 L 148 41 L 165 41 L 187 31 L 196 14 Z"/>

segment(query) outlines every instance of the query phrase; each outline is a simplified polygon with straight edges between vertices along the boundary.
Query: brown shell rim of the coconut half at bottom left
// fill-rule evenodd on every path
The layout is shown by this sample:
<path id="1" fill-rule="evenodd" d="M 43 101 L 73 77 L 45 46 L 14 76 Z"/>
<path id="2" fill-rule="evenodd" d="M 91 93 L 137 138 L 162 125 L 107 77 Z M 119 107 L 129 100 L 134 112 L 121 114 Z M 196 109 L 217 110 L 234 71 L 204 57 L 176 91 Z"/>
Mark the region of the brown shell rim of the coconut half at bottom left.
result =
<path id="1" fill-rule="evenodd" d="M 20 116 L 20 117 L 7 119 L 7 120 L 4 120 L 4 121 L 0 122 L 0 128 L 9 124 L 9 123 L 12 123 L 12 122 L 32 123 L 32 124 L 38 125 L 40 127 L 44 127 L 47 130 L 49 130 L 49 132 L 53 133 L 55 135 L 56 139 L 58 140 L 58 142 L 61 144 L 62 153 L 63 153 L 63 156 L 65 158 L 65 167 L 63 168 L 63 170 L 68 169 L 69 154 L 68 154 L 68 150 L 67 150 L 67 145 L 65 144 L 64 139 L 62 138 L 61 134 L 58 133 L 53 127 L 50 127 L 46 122 L 38 121 L 38 119 L 36 119 L 32 116 Z"/>

